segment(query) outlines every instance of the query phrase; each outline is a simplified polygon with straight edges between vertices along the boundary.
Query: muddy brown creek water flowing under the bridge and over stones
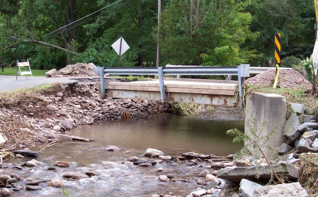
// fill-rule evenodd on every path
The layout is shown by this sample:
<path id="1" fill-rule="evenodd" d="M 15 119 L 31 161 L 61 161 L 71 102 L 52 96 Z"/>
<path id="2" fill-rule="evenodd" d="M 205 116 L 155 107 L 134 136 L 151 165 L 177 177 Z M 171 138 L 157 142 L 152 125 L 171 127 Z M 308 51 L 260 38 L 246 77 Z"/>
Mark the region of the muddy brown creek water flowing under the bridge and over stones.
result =
<path id="1" fill-rule="evenodd" d="M 198 187 L 196 183 L 198 173 L 206 169 L 207 163 L 202 163 L 203 166 L 190 167 L 187 163 L 163 162 L 154 167 L 144 168 L 126 166 L 120 162 L 130 156 L 137 156 L 140 160 L 149 159 L 143 156 L 147 148 L 156 148 L 166 155 L 176 156 L 190 151 L 218 156 L 233 154 L 242 145 L 232 144 L 232 139 L 225 132 L 234 127 L 244 129 L 244 120 L 238 119 L 236 114 L 240 112 L 233 108 L 216 107 L 213 112 L 198 116 L 157 114 L 141 119 L 81 126 L 67 134 L 92 138 L 93 142 L 75 142 L 66 139 L 58 145 L 51 146 L 39 153 L 38 160 L 45 166 L 38 167 L 31 173 L 24 171 L 22 177 L 48 180 L 62 178 L 66 172 L 80 174 L 92 169 L 100 175 L 76 181 L 63 180 L 70 196 L 146 197 L 151 194 L 189 194 L 191 189 Z M 120 147 L 122 151 L 107 152 L 105 147 L 108 145 Z M 58 172 L 45 169 L 57 160 L 72 163 L 69 168 L 58 168 Z M 117 165 L 105 169 L 102 161 L 113 161 Z M 159 167 L 165 171 L 156 172 Z M 159 175 L 168 173 L 189 182 L 158 180 Z M 28 193 L 34 196 L 63 196 L 61 189 L 46 187 L 45 183 L 41 185 L 42 190 Z"/>

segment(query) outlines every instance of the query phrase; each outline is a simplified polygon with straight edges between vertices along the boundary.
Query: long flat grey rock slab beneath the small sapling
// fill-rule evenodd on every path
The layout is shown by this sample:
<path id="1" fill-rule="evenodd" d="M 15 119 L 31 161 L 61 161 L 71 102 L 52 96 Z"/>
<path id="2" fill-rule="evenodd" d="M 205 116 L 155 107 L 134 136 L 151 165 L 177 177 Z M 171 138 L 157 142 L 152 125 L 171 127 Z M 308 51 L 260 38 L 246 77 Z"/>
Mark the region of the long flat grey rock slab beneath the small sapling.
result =
<path id="1" fill-rule="evenodd" d="M 277 174 L 288 179 L 298 178 L 299 167 L 287 163 L 281 163 L 272 166 Z M 269 180 L 272 177 L 272 170 L 269 165 L 251 166 L 251 167 L 226 167 L 218 170 L 217 177 L 229 180 L 233 183 L 239 183 L 241 179 L 254 180 L 259 175 L 259 180 Z"/>

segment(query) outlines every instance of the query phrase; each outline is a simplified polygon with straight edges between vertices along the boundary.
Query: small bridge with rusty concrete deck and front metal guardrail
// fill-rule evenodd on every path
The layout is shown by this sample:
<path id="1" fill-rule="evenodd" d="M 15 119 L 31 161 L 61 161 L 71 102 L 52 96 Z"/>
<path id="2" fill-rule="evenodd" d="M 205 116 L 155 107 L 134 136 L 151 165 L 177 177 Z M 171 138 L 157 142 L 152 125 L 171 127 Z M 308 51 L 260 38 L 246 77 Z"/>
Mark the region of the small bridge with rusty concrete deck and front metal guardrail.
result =
<path id="1" fill-rule="evenodd" d="M 242 106 L 241 83 L 249 77 L 250 65 L 238 66 L 188 66 L 188 67 L 95 67 L 94 74 L 100 75 L 102 98 L 135 98 L 161 100 L 162 102 L 184 102 L 209 105 Z M 135 82 L 109 82 L 105 85 L 105 74 L 158 75 L 158 80 Z M 238 81 L 163 78 L 164 75 L 237 75 Z M 236 90 L 238 89 L 239 97 Z M 239 98 L 239 103 L 237 99 Z"/>

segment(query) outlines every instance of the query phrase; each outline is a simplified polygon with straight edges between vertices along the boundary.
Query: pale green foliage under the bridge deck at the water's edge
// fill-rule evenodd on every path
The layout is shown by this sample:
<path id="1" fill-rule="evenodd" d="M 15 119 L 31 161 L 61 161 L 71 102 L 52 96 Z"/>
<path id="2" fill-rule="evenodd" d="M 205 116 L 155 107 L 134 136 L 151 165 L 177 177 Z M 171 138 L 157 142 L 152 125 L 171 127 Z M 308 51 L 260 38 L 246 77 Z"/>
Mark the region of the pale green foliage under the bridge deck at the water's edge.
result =
<path id="1" fill-rule="evenodd" d="M 171 106 L 175 114 L 183 116 L 197 115 L 203 111 L 213 110 L 212 105 L 200 105 L 193 103 L 171 103 Z"/>

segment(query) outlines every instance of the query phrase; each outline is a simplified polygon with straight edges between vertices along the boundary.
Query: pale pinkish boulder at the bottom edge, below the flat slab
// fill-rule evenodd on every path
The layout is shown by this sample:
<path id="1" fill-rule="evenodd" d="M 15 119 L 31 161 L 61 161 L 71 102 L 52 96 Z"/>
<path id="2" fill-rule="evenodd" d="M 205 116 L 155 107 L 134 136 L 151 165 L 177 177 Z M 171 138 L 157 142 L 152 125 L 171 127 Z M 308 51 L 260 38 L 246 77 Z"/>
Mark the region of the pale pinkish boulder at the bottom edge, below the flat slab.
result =
<path id="1" fill-rule="evenodd" d="M 301 187 L 299 182 L 268 185 L 256 188 L 253 192 L 254 197 L 306 197 L 306 190 Z"/>

